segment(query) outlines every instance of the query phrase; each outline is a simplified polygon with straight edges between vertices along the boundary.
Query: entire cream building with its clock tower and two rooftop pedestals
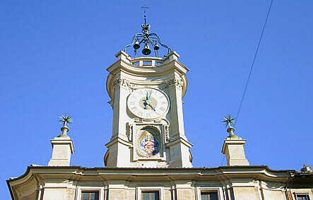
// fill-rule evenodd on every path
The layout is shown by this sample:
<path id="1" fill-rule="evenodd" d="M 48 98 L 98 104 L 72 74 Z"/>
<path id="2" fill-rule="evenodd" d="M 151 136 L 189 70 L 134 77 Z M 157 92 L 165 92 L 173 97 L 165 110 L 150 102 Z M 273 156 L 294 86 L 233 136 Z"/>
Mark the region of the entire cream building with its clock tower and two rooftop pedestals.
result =
<path id="1" fill-rule="evenodd" d="M 114 119 L 105 167 L 71 166 L 73 141 L 64 126 L 51 140 L 47 166 L 31 165 L 24 175 L 7 180 L 12 199 L 313 199 L 310 167 L 296 172 L 249 165 L 246 140 L 232 127 L 222 148 L 228 166 L 193 167 L 182 112 L 189 69 L 149 33 L 150 25 L 142 28 L 107 69 Z M 168 51 L 162 59 L 158 44 Z M 140 45 L 144 55 L 152 46 L 155 57 L 136 57 Z M 134 47 L 134 57 L 127 47 Z"/>

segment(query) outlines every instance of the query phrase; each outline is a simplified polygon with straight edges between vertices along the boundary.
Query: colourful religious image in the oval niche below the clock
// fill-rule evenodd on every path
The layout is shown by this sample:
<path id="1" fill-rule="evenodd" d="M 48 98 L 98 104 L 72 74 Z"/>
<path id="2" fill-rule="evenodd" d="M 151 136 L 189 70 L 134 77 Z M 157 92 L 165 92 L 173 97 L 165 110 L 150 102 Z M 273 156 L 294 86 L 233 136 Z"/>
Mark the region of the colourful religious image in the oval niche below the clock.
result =
<path id="1" fill-rule="evenodd" d="M 141 129 L 141 136 L 139 137 L 138 147 L 139 152 L 144 157 L 151 157 L 157 155 L 160 151 L 159 137 L 160 133 L 155 129 L 145 128 Z"/>

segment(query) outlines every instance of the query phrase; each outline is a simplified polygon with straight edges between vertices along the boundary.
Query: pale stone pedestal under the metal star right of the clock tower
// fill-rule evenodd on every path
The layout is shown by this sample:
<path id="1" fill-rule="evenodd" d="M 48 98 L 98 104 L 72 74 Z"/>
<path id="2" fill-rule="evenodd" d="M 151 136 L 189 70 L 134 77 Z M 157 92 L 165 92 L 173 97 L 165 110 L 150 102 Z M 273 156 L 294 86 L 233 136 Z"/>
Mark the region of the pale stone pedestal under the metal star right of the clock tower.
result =
<path id="1" fill-rule="evenodd" d="M 226 155 L 228 166 L 249 165 L 244 155 L 244 144 L 246 140 L 233 134 L 234 128 L 228 128 L 230 136 L 224 140 L 222 153 Z"/>

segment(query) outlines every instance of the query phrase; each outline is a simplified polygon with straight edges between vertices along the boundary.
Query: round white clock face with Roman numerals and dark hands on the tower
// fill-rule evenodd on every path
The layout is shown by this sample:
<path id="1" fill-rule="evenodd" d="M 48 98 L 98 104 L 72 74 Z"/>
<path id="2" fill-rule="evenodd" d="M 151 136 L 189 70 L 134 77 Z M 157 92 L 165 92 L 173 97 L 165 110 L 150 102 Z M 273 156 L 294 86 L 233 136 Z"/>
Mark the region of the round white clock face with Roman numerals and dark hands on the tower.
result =
<path id="1" fill-rule="evenodd" d="M 129 111 L 143 119 L 155 119 L 163 116 L 169 109 L 169 105 L 167 95 L 153 88 L 134 90 L 127 99 Z"/>

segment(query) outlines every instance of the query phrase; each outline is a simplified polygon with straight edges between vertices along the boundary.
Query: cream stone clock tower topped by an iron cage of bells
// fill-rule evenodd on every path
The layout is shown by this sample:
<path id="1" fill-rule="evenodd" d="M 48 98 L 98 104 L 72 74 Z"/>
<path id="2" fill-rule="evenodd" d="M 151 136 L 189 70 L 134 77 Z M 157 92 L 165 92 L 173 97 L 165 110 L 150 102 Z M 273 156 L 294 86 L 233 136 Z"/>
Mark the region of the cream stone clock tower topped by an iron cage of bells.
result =
<path id="1" fill-rule="evenodd" d="M 182 112 L 189 69 L 149 32 L 145 22 L 142 33 L 116 54 L 117 61 L 107 69 L 113 128 L 106 144 L 106 167 L 192 167 L 192 144 L 184 134 Z M 136 57 L 141 45 L 143 55 L 148 56 L 152 47 L 155 57 Z M 167 49 L 163 58 L 159 45 Z M 133 57 L 126 53 L 128 47 L 134 47 Z"/>

